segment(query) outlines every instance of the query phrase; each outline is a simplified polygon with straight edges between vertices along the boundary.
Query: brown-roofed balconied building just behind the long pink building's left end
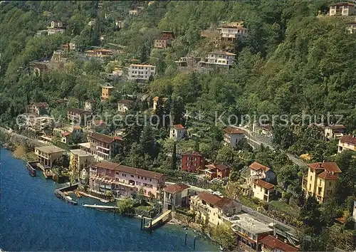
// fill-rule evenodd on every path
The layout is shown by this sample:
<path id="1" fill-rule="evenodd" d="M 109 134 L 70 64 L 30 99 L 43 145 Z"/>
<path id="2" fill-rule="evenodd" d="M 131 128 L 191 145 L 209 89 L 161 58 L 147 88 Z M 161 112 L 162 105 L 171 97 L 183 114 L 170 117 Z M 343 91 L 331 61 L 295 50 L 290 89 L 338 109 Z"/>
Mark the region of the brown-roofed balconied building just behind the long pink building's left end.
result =
<path id="1" fill-rule="evenodd" d="M 89 136 L 90 152 L 97 160 L 110 160 L 112 155 L 118 154 L 117 144 L 121 144 L 121 137 L 110 137 L 108 135 L 93 132 Z"/>

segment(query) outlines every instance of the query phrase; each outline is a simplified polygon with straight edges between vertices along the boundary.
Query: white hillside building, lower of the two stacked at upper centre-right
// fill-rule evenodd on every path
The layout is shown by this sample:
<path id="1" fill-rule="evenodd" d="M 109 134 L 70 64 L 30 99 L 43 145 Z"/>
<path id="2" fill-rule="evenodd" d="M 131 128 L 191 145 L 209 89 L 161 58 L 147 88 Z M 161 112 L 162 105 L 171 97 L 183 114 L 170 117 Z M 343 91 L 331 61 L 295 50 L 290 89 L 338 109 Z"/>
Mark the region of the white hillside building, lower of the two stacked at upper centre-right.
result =
<path id="1" fill-rule="evenodd" d="M 235 53 L 229 53 L 226 51 L 214 51 L 208 54 L 204 61 L 199 62 L 200 67 L 205 68 L 230 68 L 235 62 Z"/>

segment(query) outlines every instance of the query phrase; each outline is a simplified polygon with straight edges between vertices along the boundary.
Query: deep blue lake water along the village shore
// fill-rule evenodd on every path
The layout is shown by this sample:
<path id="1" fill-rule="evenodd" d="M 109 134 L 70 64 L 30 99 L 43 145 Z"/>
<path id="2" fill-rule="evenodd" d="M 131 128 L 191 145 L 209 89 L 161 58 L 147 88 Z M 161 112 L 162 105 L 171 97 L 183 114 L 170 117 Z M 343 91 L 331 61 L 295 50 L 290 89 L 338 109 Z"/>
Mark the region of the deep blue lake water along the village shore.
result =
<path id="1" fill-rule="evenodd" d="M 115 219 L 112 213 L 61 201 L 54 195 L 58 184 L 40 172 L 30 177 L 25 163 L 6 149 L 0 149 L 0 162 L 0 248 L 5 251 L 193 250 L 193 231 L 166 224 L 152 234 L 142 232 L 140 219 L 118 214 Z M 196 251 L 218 248 L 197 236 Z"/>

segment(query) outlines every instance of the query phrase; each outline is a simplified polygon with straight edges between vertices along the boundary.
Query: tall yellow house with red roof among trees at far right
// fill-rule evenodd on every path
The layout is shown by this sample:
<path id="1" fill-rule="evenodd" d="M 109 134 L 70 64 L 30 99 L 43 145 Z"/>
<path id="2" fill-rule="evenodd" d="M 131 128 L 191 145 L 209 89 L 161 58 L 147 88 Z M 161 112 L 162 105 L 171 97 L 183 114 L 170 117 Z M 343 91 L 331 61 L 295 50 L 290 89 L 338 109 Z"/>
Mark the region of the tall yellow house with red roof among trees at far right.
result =
<path id="1" fill-rule="evenodd" d="M 333 195 L 341 170 L 335 162 L 308 164 L 308 167 L 307 177 L 303 177 L 302 188 L 307 196 L 315 196 L 323 203 Z"/>

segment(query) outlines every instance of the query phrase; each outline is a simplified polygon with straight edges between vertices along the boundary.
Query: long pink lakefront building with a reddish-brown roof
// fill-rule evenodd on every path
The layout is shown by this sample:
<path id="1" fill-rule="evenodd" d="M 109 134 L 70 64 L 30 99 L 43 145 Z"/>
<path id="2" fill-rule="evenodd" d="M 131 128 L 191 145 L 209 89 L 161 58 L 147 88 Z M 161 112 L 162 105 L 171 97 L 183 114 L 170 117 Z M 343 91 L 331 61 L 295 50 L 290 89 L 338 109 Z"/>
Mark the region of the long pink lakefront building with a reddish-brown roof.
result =
<path id="1" fill-rule="evenodd" d="M 142 193 L 147 197 L 160 198 L 165 175 L 145 169 L 102 161 L 90 164 L 90 191 L 105 194 L 111 191 L 115 197 Z"/>

